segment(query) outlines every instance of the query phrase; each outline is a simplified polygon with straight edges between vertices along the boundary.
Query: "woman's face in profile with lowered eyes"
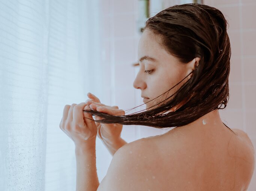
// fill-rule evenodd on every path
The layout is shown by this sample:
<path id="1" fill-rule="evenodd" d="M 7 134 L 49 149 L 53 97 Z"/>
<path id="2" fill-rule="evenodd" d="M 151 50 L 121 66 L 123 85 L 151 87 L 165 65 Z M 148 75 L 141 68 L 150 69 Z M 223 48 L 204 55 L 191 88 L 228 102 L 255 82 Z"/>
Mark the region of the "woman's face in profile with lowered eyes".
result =
<path id="1" fill-rule="evenodd" d="M 143 99 L 143 102 L 146 103 L 146 109 L 174 94 L 190 76 L 176 87 L 174 86 L 192 71 L 195 60 L 200 60 L 200 58 L 196 58 L 189 63 L 181 63 L 177 57 L 168 53 L 160 43 L 160 36 L 146 29 L 138 44 L 139 72 L 133 82 L 133 87 L 141 90 L 141 97 L 146 97 Z M 174 87 L 172 90 L 165 93 L 172 87 Z M 163 94 L 161 97 L 153 100 L 161 94 Z M 149 109 L 153 109 L 153 107 Z"/>

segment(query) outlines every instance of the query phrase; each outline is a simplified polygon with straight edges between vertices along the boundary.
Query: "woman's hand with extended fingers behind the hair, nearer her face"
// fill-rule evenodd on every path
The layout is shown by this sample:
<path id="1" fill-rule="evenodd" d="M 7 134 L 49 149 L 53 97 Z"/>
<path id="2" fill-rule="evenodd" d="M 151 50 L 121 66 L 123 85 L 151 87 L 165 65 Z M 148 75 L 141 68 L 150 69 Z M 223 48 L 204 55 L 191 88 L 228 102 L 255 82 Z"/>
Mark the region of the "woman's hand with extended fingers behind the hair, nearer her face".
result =
<path id="1" fill-rule="evenodd" d="M 85 103 L 90 104 L 89 106 L 91 109 L 110 115 L 125 115 L 124 110 L 118 109 L 118 106 L 106 106 L 105 104 L 100 103 L 99 98 L 91 93 L 88 93 L 87 96 L 90 99 Z M 96 116 L 94 120 L 100 119 L 103 118 Z M 104 143 L 111 144 L 121 138 L 123 125 L 118 123 L 95 123 L 97 126 L 97 137 L 99 137 Z"/>

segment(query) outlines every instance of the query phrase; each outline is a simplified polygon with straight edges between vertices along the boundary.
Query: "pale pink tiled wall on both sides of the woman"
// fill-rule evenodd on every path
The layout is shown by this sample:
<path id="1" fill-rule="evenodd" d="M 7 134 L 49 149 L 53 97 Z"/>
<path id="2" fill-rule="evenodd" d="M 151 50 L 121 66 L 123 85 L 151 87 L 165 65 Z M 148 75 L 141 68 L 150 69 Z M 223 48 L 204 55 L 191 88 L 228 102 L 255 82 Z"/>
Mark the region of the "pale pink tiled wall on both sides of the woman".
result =
<path id="1" fill-rule="evenodd" d="M 165 6 L 174 1 L 165 0 Z M 130 109 L 142 104 L 140 90 L 132 87 L 136 69 L 140 35 L 136 28 L 137 0 L 101 0 L 102 51 L 106 68 L 104 82 L 106 104 Z M 177 2 L 177 1 L 175 1 Z M 256 149 L 256 1 L 255 0 L 204 0 L 220 9 L 229 22 L 231 41 L 230 98 L 225 110 L 219 110 L 223 122 L 231 128 L 247 132 Z M 131 113 L 131 112 L 129 112 Z M 128 113 L 127 113 L 128 114 Z M 154 136 L 166 131 L 145 126 L 124 126 L 122 138 L 127 142 L 141 137 Z M 248 191 L 256 191 L 256 173 Z"/>

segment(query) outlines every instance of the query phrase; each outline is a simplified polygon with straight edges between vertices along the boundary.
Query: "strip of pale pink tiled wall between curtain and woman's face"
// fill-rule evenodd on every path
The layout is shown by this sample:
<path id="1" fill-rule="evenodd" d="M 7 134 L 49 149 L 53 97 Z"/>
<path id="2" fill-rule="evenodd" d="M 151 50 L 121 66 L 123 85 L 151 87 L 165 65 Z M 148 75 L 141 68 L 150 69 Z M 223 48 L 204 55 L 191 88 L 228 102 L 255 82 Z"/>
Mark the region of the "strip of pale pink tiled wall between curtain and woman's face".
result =
<path id="1" fill-rule="evenodd" d="M 134 63 L 137 59 L 136 3 L 137 1 L 101 0 L 102 3 L 102 51 L 107 59 L 102 62 L 105 104 L 128 110 L 135 106 Z M 126 114 L 129 114 L 128 112 Z M 123 126 L 121 137 L 127 142 L 136 140 L 136 127 Z"/>

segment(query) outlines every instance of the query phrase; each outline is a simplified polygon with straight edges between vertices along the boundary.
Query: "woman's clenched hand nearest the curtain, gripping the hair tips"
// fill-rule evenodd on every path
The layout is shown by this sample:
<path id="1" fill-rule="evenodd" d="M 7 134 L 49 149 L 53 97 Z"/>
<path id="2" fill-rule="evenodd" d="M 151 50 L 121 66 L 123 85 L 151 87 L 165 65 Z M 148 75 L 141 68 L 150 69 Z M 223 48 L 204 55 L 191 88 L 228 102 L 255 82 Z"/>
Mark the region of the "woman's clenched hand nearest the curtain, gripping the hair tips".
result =
<path id="1" fill-rule="evenodd" d="M 91 109 L 84 102 L 71 106 L 66 105 L 60 121 L 60 129 L 79 147 L 95 142 L 97 136 L 97 127 L 92 115 L 85 113 L 83 110 Z"/>

